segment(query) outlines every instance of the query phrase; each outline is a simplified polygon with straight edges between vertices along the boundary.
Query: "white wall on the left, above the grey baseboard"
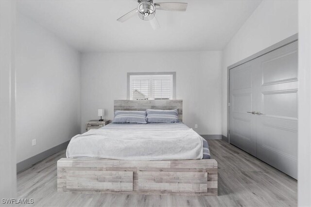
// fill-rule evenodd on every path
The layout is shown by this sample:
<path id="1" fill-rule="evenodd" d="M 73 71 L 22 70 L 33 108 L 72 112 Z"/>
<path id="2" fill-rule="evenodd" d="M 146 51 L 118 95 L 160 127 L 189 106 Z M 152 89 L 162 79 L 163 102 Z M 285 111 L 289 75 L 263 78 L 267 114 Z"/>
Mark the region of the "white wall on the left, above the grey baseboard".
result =
<path id="1" fill-rule="evenodd" d="M 17 15 L 17 162 L 80 133 L 80 53 Z M 36 145 L 32 146 L 32 140 Z"/>

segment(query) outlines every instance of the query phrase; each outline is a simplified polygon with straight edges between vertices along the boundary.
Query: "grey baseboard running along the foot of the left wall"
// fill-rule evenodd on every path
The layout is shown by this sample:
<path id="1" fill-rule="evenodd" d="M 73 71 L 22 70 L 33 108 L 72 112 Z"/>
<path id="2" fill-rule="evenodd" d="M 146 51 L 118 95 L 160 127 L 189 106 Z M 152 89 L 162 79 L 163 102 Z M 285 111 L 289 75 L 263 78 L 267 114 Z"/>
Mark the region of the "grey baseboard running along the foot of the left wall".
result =
<path id="1" fill-rule="evenodd" d="M 57 146 L 52 147 L 51 149 L 48 149 L 44 152 L 41 152 L 31 158 L 25 159 L 21 162 L 18 162 L 16 164 L 17 173 L 26 170 L 30 167 L 32 167 L 35 163 L 41 161 L 42 159 L 46 159 L 47 157 L 51 156 L 52 154 L 55 154 L 63 149 L 66 149 L 69 144 L 69 141 L 61 143 Z"/>

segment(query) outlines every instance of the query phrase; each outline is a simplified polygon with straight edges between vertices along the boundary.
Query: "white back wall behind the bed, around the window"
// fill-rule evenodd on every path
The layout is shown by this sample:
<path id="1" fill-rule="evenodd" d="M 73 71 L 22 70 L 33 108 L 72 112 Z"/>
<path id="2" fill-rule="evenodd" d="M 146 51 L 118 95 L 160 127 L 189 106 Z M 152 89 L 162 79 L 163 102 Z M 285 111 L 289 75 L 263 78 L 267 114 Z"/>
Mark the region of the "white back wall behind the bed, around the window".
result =
<path id="1" fill-rule="evenodd" d="M 127 72 L 176 72 L 176 99 L 183 121 L 199 134 L 221 134 L 221 55 L 206 52 L 85 53 L 82 55 L 82 131 L 98 119 L 113 119 L 113 100 L 127 98 Z"/>

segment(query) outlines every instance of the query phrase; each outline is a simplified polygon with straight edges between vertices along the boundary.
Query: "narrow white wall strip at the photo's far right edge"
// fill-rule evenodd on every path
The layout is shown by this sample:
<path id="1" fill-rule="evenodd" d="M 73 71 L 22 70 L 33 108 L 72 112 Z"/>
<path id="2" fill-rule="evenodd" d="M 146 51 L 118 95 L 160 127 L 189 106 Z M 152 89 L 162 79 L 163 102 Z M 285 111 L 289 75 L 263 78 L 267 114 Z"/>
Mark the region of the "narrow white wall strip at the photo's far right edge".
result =
<path id="1" fill-rule="evenodd" d="M 311 207 L 311 1 L 298 5 L 298 206 Z"/>

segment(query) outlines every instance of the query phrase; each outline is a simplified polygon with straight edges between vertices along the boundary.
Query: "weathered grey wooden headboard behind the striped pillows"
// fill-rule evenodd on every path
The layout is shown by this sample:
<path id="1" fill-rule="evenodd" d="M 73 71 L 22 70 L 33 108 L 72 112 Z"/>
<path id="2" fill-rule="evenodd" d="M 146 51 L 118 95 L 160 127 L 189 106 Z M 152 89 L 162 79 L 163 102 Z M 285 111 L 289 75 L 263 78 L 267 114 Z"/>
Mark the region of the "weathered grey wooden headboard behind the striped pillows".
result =
<path id="1" fill-rule="evenodd" d="M 183 100 L 114 100 L 114 111 L 145 111 L 146 109 L 178 110 L 183 121 Z"/>

